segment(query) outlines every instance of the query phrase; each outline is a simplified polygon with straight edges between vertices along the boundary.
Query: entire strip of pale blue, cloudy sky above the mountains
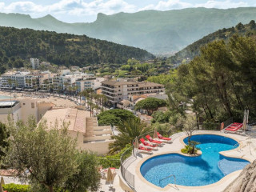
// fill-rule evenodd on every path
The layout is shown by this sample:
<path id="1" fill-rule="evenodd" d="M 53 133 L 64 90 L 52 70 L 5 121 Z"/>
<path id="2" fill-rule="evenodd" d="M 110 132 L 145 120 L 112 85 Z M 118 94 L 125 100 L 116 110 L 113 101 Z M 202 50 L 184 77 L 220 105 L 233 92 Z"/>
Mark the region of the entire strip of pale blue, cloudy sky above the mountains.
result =
<path id="1" fill-rule="evenodd" d="M 0 0 L 0 12 L 51 14 L 62 22 L 94 22 L 98 13 L 134 13 L 141 10 L 180 10 L 189 7 L 228 9 L 256 6 L 255 0 Z"/>

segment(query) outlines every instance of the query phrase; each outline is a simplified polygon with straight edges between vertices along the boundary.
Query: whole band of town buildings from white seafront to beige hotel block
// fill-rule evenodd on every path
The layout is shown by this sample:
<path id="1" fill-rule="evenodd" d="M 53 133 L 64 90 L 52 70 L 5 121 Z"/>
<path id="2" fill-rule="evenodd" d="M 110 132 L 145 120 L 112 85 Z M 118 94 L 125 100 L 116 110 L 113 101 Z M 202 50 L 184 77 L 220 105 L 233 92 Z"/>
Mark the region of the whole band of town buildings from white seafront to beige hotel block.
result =
<path id="1" fill-rule="evenodd" d="M 78 95 L 84 90 L 104 94 L 108 106 L 133 109 L 136 102 L 147 97 L 166 98 L 165 87 L 154 82 L 138 82 L 138 78 L 117 78 L 110 75 L 96 77 L 85 73 L 85 68 L 61 66 L 56 73 L 50 70 L 50 62 L 30 58 L 32 70 L 10 70 L 0 78 L 1 90 L 17 90 L 53 94 Z"/>

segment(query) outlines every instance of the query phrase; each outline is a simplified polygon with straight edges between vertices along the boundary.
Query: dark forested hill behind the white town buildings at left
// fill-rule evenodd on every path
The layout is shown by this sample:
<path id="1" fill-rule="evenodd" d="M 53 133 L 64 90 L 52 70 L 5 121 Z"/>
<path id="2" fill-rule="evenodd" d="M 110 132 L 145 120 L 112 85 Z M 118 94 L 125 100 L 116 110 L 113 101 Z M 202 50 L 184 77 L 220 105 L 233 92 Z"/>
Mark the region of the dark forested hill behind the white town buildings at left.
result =
<path id="1" fill-rule="evenodd" d="M 0 66 L 22 67 L 30 58 L 64 66 L 89 66 L 101 63 L 126 63 L 129 58 L 145 60 L 153 54 L 86 35 L 57 34 L 30 29 L 0 27 Z"/>

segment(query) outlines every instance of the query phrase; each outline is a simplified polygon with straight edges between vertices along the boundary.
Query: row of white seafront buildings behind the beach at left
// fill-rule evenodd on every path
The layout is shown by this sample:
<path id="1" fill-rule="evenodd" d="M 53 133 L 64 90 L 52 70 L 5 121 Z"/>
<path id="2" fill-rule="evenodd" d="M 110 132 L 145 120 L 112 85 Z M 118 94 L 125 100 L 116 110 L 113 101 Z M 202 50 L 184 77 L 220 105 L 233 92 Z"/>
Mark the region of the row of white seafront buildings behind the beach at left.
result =
<path id="1" fill-rule="evenodd" d="M 0 85 L 2 89 L 16 90 L 44 90 L 59 92 L 70 89 L 81 92 L 86 89 L 94 89 L 94 82 L 102 81 L 95 78 L 94 74 L 72 74 L 70 70 L 59 70 L 58 74 L 50 71 L 10 71 L 2 74 Z"/>

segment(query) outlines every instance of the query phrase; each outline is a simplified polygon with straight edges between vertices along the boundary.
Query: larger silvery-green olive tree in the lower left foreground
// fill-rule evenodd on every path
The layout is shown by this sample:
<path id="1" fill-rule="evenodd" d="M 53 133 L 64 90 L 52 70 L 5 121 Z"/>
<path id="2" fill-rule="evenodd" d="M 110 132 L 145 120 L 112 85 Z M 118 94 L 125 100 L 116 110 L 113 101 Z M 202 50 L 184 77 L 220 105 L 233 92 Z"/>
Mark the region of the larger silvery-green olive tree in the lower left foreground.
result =
<path id="1" fill-rule="evenodd" d="M 34 118 L 26 125 L 9 119 L 6 127 L 12 137 L 5 165 L 17 170 L 19 178 L 54 191 L 77 171 L 76 141 L 68 136 L 67 126 L 63 122 L 58 130 L 58 122 L 49 127 L 46 120 L 37 126 Z"/>

